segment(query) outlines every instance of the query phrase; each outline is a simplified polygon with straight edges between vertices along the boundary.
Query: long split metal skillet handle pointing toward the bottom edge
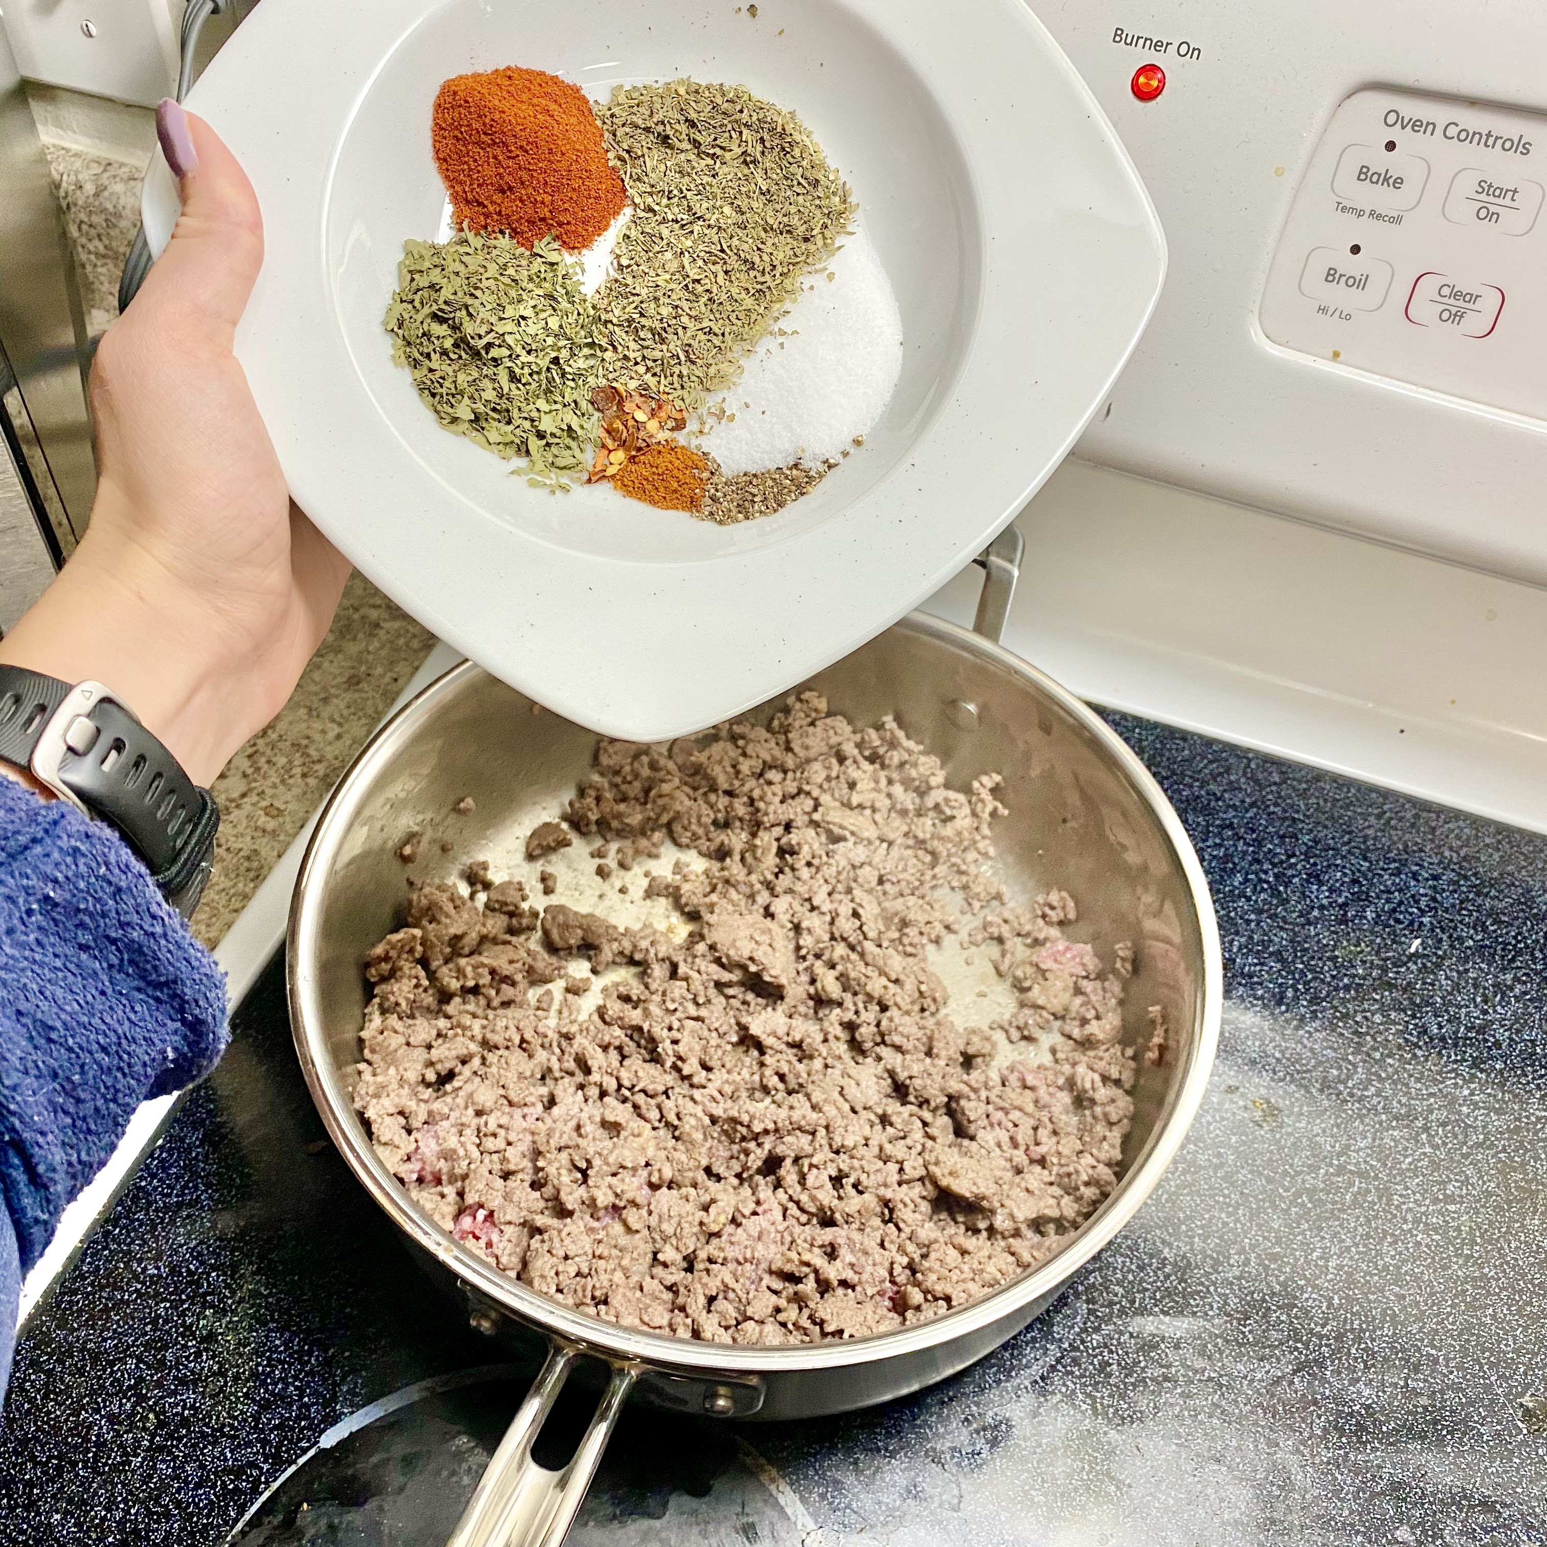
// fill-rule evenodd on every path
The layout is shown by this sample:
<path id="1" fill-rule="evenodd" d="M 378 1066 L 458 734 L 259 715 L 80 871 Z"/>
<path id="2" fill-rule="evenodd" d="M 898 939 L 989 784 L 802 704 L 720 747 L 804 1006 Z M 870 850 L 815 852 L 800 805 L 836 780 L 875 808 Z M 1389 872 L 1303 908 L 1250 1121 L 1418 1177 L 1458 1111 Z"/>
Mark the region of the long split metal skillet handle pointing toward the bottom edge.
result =
<path id="1" fill-rule="evenodd" d="M 580 1448 L 563 1471 L 549 1471 L 532 1460 L 532 1445 L 554 1411 L 574 1361 L 574 1349 L 551 1344 L 548 1363 L 478 1479 L 446 1547 L 560 1547 L 634 1385 L 631 1366 L 613 1366 L 606 1395 Z"/>

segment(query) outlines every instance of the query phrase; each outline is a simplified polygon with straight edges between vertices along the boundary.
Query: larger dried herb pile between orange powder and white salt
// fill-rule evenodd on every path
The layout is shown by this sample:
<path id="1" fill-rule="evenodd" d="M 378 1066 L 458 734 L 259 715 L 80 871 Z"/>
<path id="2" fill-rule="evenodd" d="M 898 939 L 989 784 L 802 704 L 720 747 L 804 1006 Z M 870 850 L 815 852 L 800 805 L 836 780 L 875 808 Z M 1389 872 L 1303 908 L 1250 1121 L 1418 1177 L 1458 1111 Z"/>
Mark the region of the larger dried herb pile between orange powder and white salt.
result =
<path id="1" fill-rule="evenodd" d="M 608 382 L 695 405 L 832 255 L 848 184 L 746 87 L 619 87 L 597 110 L 633 213 L 596 295 Z"/>

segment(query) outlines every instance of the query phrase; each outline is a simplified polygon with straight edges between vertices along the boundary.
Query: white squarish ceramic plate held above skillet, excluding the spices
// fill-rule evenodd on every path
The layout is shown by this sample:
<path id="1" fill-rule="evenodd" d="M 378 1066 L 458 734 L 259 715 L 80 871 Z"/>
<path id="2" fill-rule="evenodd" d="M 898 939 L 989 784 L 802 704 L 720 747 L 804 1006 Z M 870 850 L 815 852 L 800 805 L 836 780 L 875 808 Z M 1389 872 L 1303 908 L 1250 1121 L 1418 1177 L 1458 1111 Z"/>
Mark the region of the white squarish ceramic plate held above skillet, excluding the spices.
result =
<path id="1" fill-rule="evenodd" d="M 862 452 L 716 528 L 552 495 L 435 422 L 382 312 L 444 192 L 430 104 L 518 63 L 605 96 L 687 74 L 798 113 L 848 176 L 902 308 Z M 1018 0 L 265 0 L 189 105 L 248 169 L 268 255 L 237 339 L 291 492 L 441 639 L 569 719 L 696 730 L 857 648 L 1041 486 L 1128 359 L 1165 271 L 1111 124 Z M 144 215 L 176 212 L 156 158 Z"/>

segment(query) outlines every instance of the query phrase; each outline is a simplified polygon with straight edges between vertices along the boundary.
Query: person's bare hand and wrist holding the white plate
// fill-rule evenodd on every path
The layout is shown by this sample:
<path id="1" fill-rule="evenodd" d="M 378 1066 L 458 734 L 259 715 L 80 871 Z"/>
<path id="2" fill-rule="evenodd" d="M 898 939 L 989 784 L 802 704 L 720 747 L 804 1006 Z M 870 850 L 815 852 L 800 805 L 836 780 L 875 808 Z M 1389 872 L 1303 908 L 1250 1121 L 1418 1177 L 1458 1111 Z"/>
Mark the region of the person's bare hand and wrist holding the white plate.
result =
<path id="1" fill-rule="evenodd" d="M 183 215 L 91 368 L 87 535 L 0 661 L 102 682 L 209 784 L 289 698 L 350 566 L 291 503 L 232 354 L 263 261 L 252 186 L 175 102 L 156 127 Z"/>

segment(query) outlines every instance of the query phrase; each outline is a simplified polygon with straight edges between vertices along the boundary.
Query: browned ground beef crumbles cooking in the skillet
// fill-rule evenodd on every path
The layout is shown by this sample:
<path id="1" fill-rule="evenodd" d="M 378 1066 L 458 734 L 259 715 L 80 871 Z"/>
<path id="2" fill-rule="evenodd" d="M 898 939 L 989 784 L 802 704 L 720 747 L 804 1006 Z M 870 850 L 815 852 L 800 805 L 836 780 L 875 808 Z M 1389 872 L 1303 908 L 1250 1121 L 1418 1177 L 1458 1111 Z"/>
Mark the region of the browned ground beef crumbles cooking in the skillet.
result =
<path id="1" fill-rule="evenodd" d="M 647 886 L 692 927 L 538 911 L 487 871 L 481 907 L 422 885 L 365 962 L 377 1153 L 541 1293 L 715 1343 L 885 1332 L 1043 1261 L 1115 1182 L 1132 951 L 1103 972 L 1067 894 L 1007 900 L 998 784 L 948 789 L 894 722 L 811 693 L 670 752 L 600 743 L 565 831 L 696 852 Z M 947 1013 L 972 1010 L 942 942 L 993 959 L 1007 1019 Z"/>

